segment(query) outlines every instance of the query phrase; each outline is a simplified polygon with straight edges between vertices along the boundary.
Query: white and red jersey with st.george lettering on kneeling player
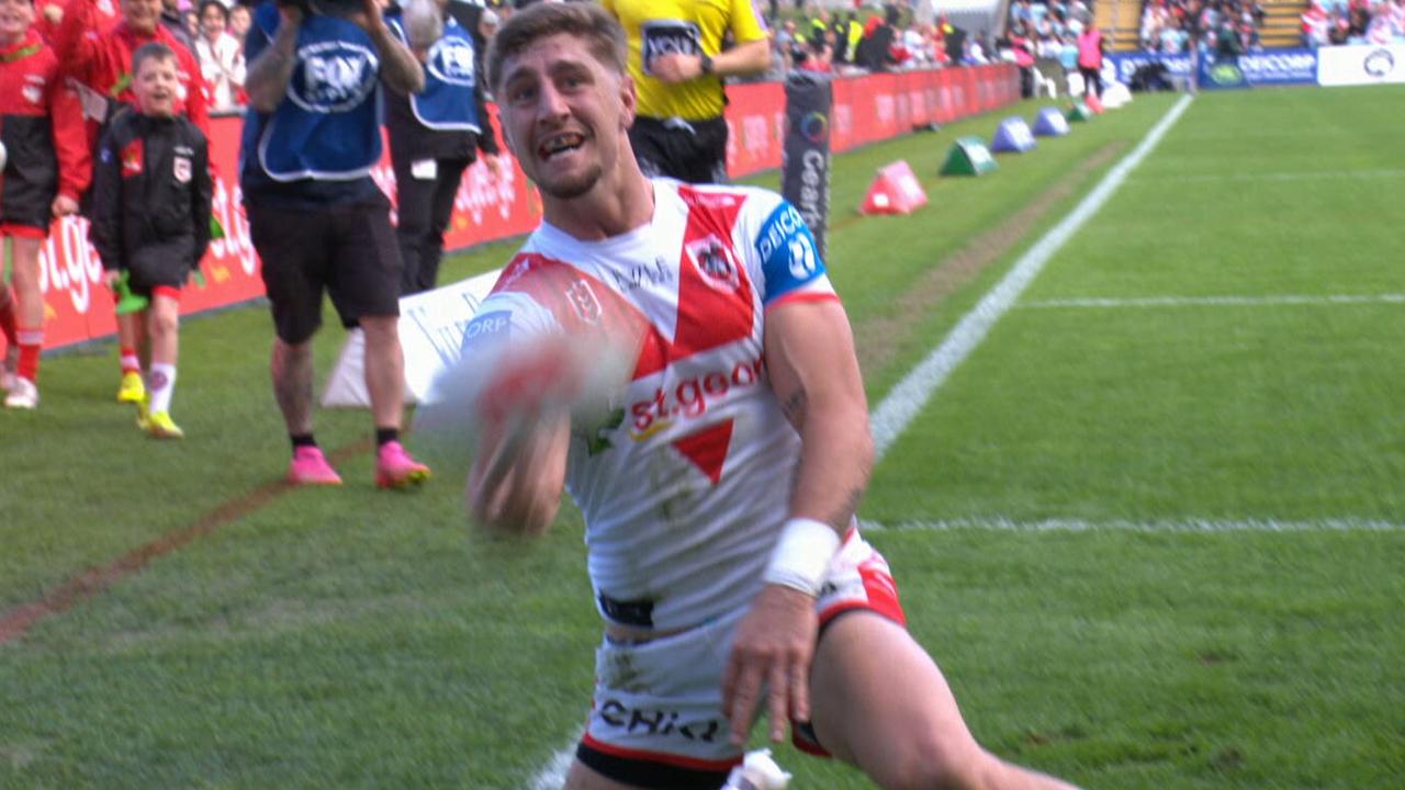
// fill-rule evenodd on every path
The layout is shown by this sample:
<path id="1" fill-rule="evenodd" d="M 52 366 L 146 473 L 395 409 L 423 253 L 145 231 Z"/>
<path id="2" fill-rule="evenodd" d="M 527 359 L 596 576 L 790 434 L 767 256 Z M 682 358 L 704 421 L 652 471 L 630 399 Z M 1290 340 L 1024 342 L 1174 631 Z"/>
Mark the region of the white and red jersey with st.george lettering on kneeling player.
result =
<path id="1" fill-rule="evenodd" d="M 532 233 L 465 329 L 465 354 L 540 333 L 642 332 L 618 409 L 572 426 L 566 486 L 601 614 L 676 630 L 750 602 L 790 514 L 799 436 L 769 382 L 766 311 L 837 297 L 780 195 L 652 183 L 653 219 L 635 231 Z"/>

